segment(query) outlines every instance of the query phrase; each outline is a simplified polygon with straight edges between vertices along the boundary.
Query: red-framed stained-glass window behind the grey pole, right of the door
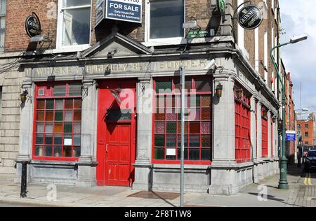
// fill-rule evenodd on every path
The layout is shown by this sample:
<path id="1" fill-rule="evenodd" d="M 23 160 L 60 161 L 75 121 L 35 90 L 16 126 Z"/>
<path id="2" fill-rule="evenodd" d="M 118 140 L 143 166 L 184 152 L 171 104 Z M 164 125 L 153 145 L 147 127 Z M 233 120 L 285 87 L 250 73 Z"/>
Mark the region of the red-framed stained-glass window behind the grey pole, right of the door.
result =
<path id="1" fill-rule="evenodd" d="M 212 80 L 187 77 L 185 89 L 185 161 L 209 163 L 212 156 Z M 158 163 L 177 164 L 181 146 L 180 82 L 176 78 L 156 79 L 154 90 L 153 159 Z"/>

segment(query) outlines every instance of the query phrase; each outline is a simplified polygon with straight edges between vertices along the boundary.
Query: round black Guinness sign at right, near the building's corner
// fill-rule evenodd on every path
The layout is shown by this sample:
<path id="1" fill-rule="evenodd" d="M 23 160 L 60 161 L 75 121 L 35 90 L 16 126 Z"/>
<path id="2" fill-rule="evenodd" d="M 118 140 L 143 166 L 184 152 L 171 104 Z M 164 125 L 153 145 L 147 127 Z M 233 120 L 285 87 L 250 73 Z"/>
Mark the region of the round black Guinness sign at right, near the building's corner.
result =
<path id="1" fill-rule="evenodd" d="M 263 13 L 257 6 L 245 6 L 238 13 L 238 23 L 244 29 L 256 29 L 262 21 Z"/>

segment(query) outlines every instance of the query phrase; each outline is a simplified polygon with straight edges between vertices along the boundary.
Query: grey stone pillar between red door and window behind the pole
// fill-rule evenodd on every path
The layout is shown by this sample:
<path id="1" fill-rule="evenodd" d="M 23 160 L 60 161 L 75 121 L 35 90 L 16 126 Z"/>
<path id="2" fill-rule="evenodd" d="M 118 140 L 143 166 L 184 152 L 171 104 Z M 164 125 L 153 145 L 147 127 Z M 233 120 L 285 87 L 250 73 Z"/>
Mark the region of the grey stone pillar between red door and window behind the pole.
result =
<path id="1" fill-rule="evenodd" d="M 133 190 L 152 187 L 152 99 L 151 78 L 140 78 L 137 84 L 137 150 Z"/>

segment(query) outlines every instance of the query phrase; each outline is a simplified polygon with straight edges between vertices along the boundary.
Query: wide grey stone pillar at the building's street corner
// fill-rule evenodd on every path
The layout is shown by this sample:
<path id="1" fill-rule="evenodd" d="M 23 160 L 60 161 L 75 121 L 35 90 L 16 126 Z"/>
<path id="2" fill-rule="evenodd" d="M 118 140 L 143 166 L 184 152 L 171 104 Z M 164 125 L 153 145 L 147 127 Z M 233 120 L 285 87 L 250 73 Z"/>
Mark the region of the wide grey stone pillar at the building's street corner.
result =
<path id="1" fill-rule="evenodd" d="M 213 161 L 211 164 L 210 194 L 237 194 L 235 168 L 235 96 L 234 74 L 216 71 L 213 96 Z M 216 87 L 223 85 L 222 97 Z"/>

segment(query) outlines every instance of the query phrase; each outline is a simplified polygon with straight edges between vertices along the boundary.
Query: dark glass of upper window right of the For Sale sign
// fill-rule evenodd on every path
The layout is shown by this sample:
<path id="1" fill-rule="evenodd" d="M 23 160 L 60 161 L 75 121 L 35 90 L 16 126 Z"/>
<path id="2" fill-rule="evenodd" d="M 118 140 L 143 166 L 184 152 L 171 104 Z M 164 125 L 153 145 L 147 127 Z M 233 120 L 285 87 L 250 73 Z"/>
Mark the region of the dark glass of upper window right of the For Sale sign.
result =
<path id="1" fill-rule="evenodd" d="M 184 0 L 149 0 L 148 5 L 147 38 L 149 41 L 183 37 Z"/>

